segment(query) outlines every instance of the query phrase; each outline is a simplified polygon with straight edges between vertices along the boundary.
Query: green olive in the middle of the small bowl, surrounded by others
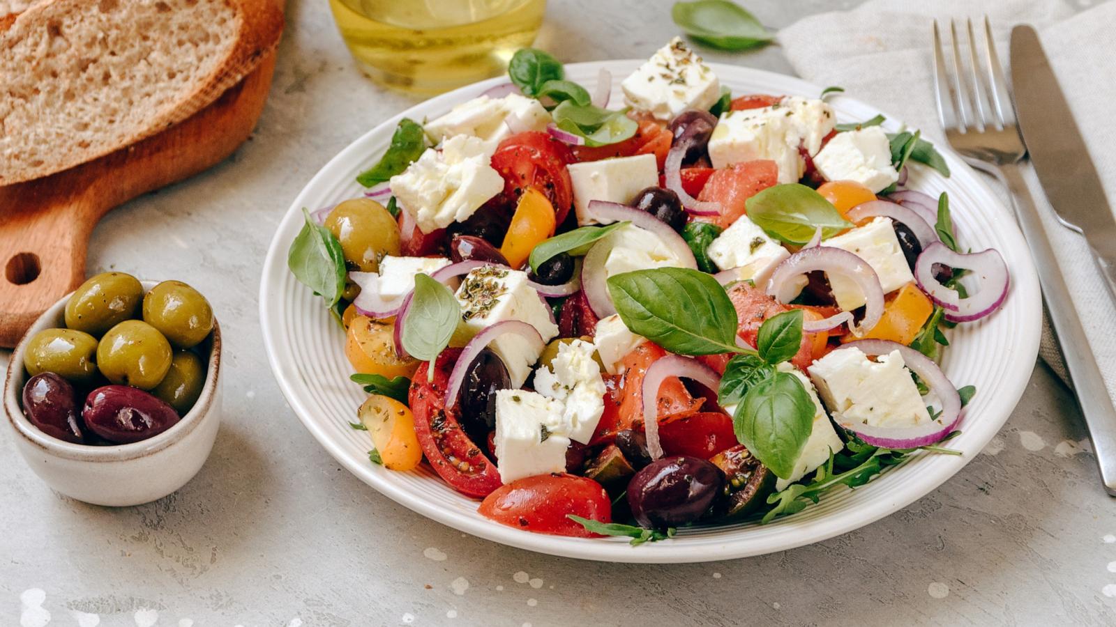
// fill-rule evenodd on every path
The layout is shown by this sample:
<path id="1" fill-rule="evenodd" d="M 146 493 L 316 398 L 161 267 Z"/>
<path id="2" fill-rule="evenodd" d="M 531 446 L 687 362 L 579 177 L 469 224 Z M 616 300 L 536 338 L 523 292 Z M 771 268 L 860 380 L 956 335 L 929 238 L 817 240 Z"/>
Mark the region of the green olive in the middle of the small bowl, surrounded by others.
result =
<path id="1" fill-rule="evenodd" d="M 151 389 L 171 369 L 171 344 L 143 320 L 124 320 L 108 329 L 97 346 L 97 367 L 117 385 Z"/>

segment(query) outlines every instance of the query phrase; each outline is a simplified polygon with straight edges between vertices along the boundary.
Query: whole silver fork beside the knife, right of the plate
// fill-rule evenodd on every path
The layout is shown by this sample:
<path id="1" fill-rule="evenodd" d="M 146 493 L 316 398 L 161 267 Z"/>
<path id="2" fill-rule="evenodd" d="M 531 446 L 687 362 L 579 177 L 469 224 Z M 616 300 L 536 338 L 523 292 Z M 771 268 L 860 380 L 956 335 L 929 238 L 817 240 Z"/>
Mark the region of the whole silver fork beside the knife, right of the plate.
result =
<path id="1" fill-rule="evenodd" d="M 934 20 L 934 91 L 939 118 L 953 149 L 973 167 L 999 179 L 1011 193 L 1016 218 L 1035 258 L 1050 324 L 1062 348 L 1078 405 L 1089 427 L 1100 478 L 1108 493 L 1116 496 L 1116 408 L 1069 297 L 1066 280 L 1058 269 L 1058 260 L 1042 228 L 1038 208 L 1020 172 L 1027 146 L 1016 124 L 1016 108 L 995 54 L 992 27 L 985 16 L 985 66 L 981 71 L 981 55 L 972 20 L 965 23 L 968 66 L 961 52 L 956 22 L 950 20 L 951 67 L 945 62 L 942 35 L 937 20 Z"/>

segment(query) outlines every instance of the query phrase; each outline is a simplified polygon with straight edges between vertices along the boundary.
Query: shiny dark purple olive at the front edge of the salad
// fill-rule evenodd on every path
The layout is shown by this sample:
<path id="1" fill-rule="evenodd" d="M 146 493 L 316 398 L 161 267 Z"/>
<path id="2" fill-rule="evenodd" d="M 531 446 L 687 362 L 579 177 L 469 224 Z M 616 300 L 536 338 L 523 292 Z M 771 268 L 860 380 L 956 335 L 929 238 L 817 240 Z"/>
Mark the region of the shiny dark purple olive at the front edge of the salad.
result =
<path id="1" fill-rule="evenodd" d="M 655 460 L 628 482 L 627 501 L 641 527 L 663 529 L 693 522 L 724 489 L 724 473 L 701 457 Z"/>

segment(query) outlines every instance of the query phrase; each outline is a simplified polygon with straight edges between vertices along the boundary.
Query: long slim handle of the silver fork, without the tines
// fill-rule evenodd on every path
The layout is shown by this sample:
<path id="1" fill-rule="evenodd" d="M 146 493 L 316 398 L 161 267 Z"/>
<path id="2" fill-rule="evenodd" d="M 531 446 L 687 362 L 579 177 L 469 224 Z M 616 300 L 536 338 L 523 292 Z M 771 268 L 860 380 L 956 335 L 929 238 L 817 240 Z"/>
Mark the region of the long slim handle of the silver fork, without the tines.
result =
<path id="1" fill-rule="evenodd" d="M 1059 270 L 1058 259 L 1054 255 L 1054 249 L 1047 239 L 1035 200 L 1023 181 L 1019 163 L 1001 164 L 999 170 L 1011 192 L 1016 218 L 1038 267 L 1042 298 L 1062 357 L 1066 359 L 1069 378 L 1074 383 L 1077 403 L 1089 427 L 1089 438 L 1093 441 L 1093 451 L 1100 467 L 1100 479 L 1108 494 L 1116 496 L 1116 407 L 1113 407 L 1112 397 L 1108 396 L 1105 379 L 1100 375 L 1100 368 L 1097 367 L 1097 358 L 1089 347 L 1080 317 L 1069 296 L 1066 279 Z"/>

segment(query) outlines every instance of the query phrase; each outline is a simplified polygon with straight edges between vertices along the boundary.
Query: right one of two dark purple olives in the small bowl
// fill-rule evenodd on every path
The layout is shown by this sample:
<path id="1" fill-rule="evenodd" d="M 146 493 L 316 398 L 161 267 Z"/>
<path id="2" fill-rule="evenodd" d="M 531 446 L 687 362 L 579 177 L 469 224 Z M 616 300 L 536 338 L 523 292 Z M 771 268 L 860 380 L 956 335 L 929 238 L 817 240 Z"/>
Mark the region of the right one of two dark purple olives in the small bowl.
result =
<path id="1" fill-rule="evenodd" d="M 81 409 L 86 427 L 116 444 L 158 435 L 179 422 L 163 401 L 127 385 L 106 385 L 89 393 Z"/>

